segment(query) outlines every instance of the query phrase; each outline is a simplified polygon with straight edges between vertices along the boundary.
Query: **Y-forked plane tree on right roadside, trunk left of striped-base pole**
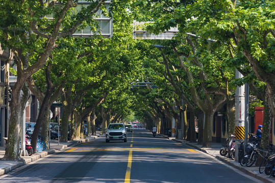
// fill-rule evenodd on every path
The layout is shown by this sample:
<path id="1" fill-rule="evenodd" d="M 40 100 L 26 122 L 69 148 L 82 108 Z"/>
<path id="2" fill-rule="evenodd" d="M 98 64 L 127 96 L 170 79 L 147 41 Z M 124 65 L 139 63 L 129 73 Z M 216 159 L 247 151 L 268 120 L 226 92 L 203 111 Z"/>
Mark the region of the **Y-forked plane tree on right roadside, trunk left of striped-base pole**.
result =
<path id="1" fill-rule="evenodd" d="M 149 23 L 144 28 L 146 31 L 157 35 L 170 27 L 178 26 L 179 34 L 174 38 L 181 41 L 181 43 L 168 47 L 172 47 L 174 53 L 178 56 L 177 66 L 186 72 L 188 76 L 188 85 L 190 86 L 192 101 L 199 106 L 206 115 L 203 145 L 211 146 L 214 113 L 220 109 L 226 101 L 228 104 L 232 104 L 232 100 L 230 100 L 232 92 L 229 90 L 229 81 L 232 78 L 232 74 L 226 75 L 227 73 L 231 73 L 232 69 L 229 69 L 227 72 L 227 67 L 222 65 L 222 60 L 226 60 L 226 58 L 230 56 L 228 47 L 227 45 L 222 45 L 222 42 L 215 43 L 215 41 L 209 42 L 207 40 L 208 38 L 205 37 L 201 39 L 198 38 L 201 24 L 199 24 L 199 21 L 197 21 L 196 24 L 191 21 L 193 19 L 194 21 L 197 20 L 196 16 L 184 16 L 191 14 L 185 10 L 187 7 L 191 7 L 193 2 L 177 4 L 170 1 L 167 3 L 158 1 L 153 3 L 156 6 L 146 6 L 148 9 L 152 9 L 152 11 L 147 10 L 148 13 L 146 15 L 149 18 L 141 17 L 138 18 L 138 20 L 154 21 L 154 23 Z M 203 2 L 201 3 L 203 4 Z M 199 6 L 197 6 L 197 8 L 199 9 Z M 196 38 L 192 37 L 196 34 L 198 34 Z M 179 51 L 179 49 L 181 50 Z M 165 57 L 168 56 L 163 55 L 164 60 L 168 60 Z M 170 63 L 174 63 L 172 59 L 170 60 Z M 169 60 L 166 63 L 169 63 Z M 199 88 L 201 88 L 201 90 L 198 90 Z M 228 105 L 228 107 L 229 106 L 232 107 L 232 105 Z M 228 116 L 230 117 L 229 120 L 231 120 L 233 115 Z"/>

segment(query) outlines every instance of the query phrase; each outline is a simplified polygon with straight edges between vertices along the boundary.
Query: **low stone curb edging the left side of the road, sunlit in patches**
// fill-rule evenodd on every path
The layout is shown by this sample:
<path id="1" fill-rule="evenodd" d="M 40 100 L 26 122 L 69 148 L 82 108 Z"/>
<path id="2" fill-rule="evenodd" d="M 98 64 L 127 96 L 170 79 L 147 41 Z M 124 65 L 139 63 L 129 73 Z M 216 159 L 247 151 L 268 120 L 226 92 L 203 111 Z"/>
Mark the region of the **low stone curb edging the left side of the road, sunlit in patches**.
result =
<path id="1" fill-rule="evenodd" d="M 91 140 L 95 139 L 95 137 L 91 137 Z M 73 140 L 71 143 L 69 144 L 66 144 L 66 145 L 60 145 L 62 146 L 60 149 L 64 149 L 64 148 L 67 148 L 69 146 L 73 146 L 73 145 L 77 145 L 79 143 L 84 143 L 84 142 L 89 142 L 89 139 L 86 138 L 86 139 L 80 139 L 80 140 Z M 49 149 L 49 150 L 44 150 L 42 151 L 42 153 L 37 153 L 31 157 L 26 157 L 26 158 L 23 158 L 25 161 L 24 162 L 16 162 L 16 161 L 5 161 L 5 163 L 7 164 L 10 164 L 9 166 L 5 167 L 5 168 L 1 168 L 0 169 L 0 176 L 1 175 L 4 175 L 4 174 L 7 174 L 8 172 L 14 170 L 15 168 L 18 168 L 20 166 L 23 166 L 23 165 L 26 165 L 28 163 L 31 163 L 35 160 L 38 160 L 40 158 L 43 158 L 47 155 L 52 155 L 52 154 L 55 154 L 57 152 L 56 149 Z"/>

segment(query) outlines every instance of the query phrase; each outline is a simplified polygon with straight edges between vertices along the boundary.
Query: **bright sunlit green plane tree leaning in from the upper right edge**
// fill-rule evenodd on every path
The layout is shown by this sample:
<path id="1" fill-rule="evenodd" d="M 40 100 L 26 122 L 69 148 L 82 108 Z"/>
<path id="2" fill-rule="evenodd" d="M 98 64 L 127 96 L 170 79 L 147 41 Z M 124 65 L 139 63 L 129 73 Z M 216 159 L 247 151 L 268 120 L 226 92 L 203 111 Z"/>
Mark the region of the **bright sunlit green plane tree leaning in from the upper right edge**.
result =
<path id="1" fill-rule="evenodd" d="M 185 9 L 183 17 L 186 20 L 190 18 L 194 26 L 201 27 L 197 32 L 199 36 L 230 45 L 235 58 L 231 62 L 238 65 L 236 68 L 249 65 L 255 76 L 266 83 L 267 101 L 274 115 L 273 12 L 274 1 L 238 1 L 238 4 L 236 1 L 226 4 L 197 1 Z"/>

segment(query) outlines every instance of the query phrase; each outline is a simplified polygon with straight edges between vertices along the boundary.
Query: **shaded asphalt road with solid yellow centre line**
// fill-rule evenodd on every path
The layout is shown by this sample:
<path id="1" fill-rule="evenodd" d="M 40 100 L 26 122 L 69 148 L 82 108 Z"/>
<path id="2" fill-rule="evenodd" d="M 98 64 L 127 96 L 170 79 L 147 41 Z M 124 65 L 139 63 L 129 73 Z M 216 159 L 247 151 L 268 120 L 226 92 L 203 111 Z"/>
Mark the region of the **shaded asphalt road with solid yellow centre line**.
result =
<path id="1" fill-rule="evenodd" d="M 0 176 L 0 182 L 260 182 L 217 159 L 146 130 L 128 142 L 97 138 Z"/>

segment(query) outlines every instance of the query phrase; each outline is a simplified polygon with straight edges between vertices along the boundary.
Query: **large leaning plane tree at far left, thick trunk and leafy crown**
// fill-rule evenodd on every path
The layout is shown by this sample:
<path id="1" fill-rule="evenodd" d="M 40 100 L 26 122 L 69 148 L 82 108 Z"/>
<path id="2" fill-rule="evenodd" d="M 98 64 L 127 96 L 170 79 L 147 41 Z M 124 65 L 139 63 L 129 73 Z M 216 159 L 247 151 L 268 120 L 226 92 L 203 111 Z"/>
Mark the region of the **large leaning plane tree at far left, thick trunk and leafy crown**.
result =
<path id="1" fill-rule="evenodd" d="M 63 1 L 62 6 L 55 6 L 57 2 L 2 1 L 0 4 L 0 10 L 5 15 L 1 21 L 1 27 L 4 28 L 0 30 L 0 42 L 2 47 L 13 51 L 17 65 L 17 81 L 12 88 L 11 118 L 4 160 L 21 160 L 19 133 L 22 111 L 28 100 L 27 79 L 47 63 L 49 55 L 58 46 L 58 39 L 72 35 L 81 25 L 84 27 L 90 24 L 95 28 L 93 15 L 99 8 L 104 8 L 105 0 L 92 1 L 77 15 L 72 15 L 71 10 L 78 2 L 68 0 Z M 49 14 L 53 14 L 54 19 L 47 20 L 45 17 Z M 30 65 L 30 60 L 36 62 Z M 24 95 L 21 95 L 21 90 Z"/>

